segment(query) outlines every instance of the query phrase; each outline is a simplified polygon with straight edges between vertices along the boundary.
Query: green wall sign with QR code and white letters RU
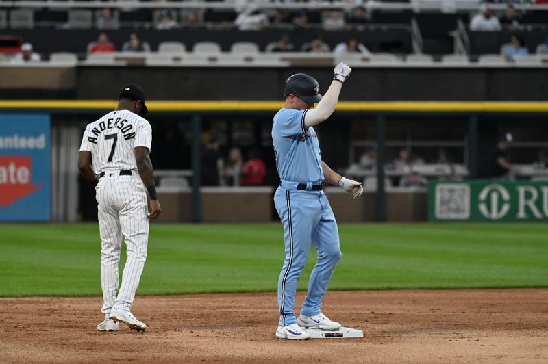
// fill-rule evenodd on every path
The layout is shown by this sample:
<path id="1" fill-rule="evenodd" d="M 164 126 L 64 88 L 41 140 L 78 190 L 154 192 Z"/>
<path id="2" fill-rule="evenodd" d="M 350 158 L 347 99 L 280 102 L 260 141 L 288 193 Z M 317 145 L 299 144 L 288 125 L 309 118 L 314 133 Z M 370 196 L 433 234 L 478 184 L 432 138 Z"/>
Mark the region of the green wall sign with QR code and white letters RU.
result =
<path id="1" fill-rule="evenodd" d="M 431 221 L 548 221 L 548 181 L 433 181 Z"/>

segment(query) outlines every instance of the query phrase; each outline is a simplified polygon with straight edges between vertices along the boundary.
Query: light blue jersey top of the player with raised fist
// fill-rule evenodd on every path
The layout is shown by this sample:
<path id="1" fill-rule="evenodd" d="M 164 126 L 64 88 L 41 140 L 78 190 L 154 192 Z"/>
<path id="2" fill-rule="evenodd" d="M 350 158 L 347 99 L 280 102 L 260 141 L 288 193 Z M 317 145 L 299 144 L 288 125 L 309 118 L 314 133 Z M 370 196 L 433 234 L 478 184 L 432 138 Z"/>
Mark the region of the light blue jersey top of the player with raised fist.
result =
<path id="1" fill-rule="evenodd" d="M 307 111 L 284 108 L 274 116 L 272 140 L 282 181 L 318 183 L 324 179 L 318 135 L 304 125 Z"/>

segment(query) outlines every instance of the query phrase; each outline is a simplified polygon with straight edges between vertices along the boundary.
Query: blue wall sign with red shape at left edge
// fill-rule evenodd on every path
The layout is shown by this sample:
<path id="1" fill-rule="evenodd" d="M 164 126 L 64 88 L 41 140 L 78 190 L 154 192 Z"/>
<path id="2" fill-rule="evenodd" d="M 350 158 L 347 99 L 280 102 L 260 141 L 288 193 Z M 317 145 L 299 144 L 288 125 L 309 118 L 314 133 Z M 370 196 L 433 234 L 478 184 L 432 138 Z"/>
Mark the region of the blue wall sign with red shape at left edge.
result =
<path id="1" fill-rule="evenodd" d="M 51 220 L 50 118 L 0 114 L 0 221 Z"/>

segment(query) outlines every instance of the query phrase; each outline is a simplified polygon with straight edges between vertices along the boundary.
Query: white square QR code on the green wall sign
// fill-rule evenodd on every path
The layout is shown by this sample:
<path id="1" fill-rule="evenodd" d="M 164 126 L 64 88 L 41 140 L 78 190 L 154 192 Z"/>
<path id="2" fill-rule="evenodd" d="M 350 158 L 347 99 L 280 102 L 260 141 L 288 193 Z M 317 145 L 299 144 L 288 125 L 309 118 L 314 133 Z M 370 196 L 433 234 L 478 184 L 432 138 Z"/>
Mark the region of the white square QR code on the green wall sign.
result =
<path id="1" fill-rule="evenodd" d="M 436 219 L 466 220 L 470 217 L 470 185 L 443 183 L 436 185 Z"/>

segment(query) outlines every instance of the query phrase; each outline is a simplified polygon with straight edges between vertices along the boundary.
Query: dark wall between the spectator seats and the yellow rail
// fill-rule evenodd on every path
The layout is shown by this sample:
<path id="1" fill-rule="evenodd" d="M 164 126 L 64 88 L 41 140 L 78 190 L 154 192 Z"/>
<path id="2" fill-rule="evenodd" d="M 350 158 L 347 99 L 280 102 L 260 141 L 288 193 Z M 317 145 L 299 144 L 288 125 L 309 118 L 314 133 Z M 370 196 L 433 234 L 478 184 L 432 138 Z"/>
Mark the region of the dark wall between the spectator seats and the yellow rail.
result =
<path id="1" fill-rule="evenodd" d="M 332 66 L 252 70 L 245 66 L 78 66 L 72 71 L 9 66 L 0 67 L 0 98 L 56 99 L 62 90 L 64 97 L 69 98 L 114 99 L 121 85 L 138 80 L 147 91 L 148 99 L 282 100 L 287 77 L 301 72 L 316 77 L 323 91 L 333 75 Z M 546 79 L 548 67 L 543 66 L 356 67 L 341 98 L 345 101 L 545 101 L 548 99 Z M 49 94 L 45 94 L 45 90 L 49 90 Z"/>

